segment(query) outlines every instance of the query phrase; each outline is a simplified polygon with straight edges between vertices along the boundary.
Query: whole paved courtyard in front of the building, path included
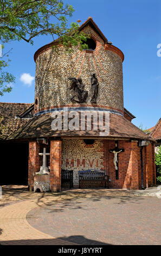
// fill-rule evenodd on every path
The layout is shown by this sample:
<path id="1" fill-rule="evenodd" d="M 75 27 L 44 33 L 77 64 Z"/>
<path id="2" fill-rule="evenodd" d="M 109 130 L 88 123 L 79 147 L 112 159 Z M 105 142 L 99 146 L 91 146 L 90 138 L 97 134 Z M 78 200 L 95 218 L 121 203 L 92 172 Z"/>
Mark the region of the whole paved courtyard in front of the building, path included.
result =
<path id="1" fill-rule="evenodd" d="M 161 198 L 125 190 L 3 186 L 1 245 L 160 245 Z"/>

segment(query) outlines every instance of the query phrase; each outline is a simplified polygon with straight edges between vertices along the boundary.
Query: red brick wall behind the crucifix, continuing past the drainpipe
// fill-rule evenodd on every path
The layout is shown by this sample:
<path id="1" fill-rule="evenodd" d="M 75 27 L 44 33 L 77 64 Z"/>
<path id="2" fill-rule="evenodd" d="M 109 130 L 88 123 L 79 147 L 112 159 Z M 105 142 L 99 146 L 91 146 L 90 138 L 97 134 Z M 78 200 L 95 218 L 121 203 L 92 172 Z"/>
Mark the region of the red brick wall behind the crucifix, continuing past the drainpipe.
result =
<path id="1" fill-rule="evenodd" d="M 141 188 L 141 155 L 137 142 L 118 141 L 118 147 L 124 148 L 123 153 L 118 154 L 119 179 L 115 179 L 113 153 L 110 149 L 115 148 L 115 141 L 104 140 L 104 170 L 110 176 L 110 187 L 129 188 L 136 190 Z M 156 184 L 154 145 L 150 144 L 143 148 L 143 176 L 144 186 L 149 187 Z"/>

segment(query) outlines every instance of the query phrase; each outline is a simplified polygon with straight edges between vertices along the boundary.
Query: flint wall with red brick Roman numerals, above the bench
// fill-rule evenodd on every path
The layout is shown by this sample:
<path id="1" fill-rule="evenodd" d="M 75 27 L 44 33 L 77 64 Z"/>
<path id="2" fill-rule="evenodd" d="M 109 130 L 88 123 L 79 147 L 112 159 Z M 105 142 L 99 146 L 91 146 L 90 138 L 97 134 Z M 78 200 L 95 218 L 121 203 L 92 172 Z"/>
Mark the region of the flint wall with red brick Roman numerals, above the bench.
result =
<path id="1" fill-rule="evenodd" d="M 79 186 L 79 170 L 104 169 L 103 142 L 95 140 L 87 145 L 83 139 L 63 139 L 62 169 L 73 170 L 73 186 Z"/>

